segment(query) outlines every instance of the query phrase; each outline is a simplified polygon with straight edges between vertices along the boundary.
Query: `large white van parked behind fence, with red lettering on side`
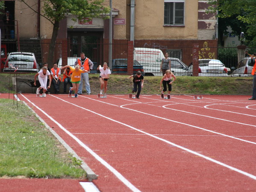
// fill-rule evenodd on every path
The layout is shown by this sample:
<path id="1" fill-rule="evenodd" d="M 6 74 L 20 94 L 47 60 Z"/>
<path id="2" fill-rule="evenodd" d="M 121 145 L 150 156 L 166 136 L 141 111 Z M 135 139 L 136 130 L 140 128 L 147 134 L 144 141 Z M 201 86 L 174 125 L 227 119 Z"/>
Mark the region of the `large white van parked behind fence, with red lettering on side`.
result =
<path id="1" fill-rule="evenodd" d="M 133 59 L 138 61 L 144 68 L 145 76 L 162 76 L 160 66 L 164 54 L 160 49 L 136 47 Z M 186 76 L 188 67 L 178 58 L 171 58 L 171 71 L 176 76 Z"/>

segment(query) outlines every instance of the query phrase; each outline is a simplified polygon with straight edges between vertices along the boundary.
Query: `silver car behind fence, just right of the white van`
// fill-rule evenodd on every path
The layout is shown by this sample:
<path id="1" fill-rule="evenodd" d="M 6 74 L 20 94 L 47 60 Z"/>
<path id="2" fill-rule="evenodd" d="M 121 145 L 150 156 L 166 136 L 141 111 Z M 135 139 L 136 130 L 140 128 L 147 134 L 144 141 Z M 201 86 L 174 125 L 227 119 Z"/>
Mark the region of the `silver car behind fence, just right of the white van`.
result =
<path id="1" fill-rule="evenodd" d="M 228 76 L 228 69 L 217 59 L 199 59 L 198 76 Z M 188 76 L 193 75 L 193 63 L 188 67 Z"/>

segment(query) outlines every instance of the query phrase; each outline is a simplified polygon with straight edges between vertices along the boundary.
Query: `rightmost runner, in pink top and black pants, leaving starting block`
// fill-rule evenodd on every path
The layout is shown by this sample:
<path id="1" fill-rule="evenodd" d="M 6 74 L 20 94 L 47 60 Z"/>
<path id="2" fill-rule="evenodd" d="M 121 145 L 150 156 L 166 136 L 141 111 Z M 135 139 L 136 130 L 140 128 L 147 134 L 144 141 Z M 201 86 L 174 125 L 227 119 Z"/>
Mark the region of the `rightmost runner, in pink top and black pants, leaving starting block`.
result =
<path id="1" fill-rule="evenodd" d="M 172 81 L 171 79 L 174 78 L 174 80 Z M 162 90 L 162 84 L 164 89 L 161 91 L 161 98 L 164 98 L 164 93 L 167 90 L 167 86 L 168 85 L 168 99 L 171 99 L 170 93 L 171 93 L 171 84 L 176 80 L 176 77 L 174 76 L 174 74 L 171 72 L 171 70 L 166 70 L 165 75 L 163 76 L 163 78 L 160 81 L 160 90 Z"/>

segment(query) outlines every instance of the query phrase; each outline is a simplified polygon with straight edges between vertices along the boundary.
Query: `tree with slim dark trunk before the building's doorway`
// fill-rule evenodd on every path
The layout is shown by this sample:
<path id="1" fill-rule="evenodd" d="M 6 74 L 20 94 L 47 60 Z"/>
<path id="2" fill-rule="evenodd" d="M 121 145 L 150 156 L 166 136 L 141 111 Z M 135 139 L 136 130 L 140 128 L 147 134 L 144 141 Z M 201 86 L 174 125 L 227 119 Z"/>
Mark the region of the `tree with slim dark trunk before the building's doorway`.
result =
<path id="1" fill-rule="evenodd" d="M 33 9 L 28 5 L 28 3 L 26 3 L 29 0 L 21 1 L 37 13 L 37 10 Z M 82 19 L 83 17 L 100 17 L 101 14 L 109 13 L 110 9 L 102 6 L 103 2 L 104 0 L 40 0 L 40 3 L 43 4 L 40 15 L 53 24 L 53 33 L 49 46 L 47 63 L 53 63 L 53 54 L 56 46 L 60 21 L 68 14 L 76 15 L 77 18 L 73 18 L 73 20 L 76 20 Z"/>

